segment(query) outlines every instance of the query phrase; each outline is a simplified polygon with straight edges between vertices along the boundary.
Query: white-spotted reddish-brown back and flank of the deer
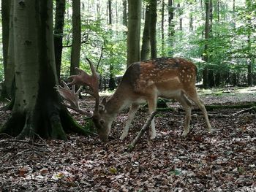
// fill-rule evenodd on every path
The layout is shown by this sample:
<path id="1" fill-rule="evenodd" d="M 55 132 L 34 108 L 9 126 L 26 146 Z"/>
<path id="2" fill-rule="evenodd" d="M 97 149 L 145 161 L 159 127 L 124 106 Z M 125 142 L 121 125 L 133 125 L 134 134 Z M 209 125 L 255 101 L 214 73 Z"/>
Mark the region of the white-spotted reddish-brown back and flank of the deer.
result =
<path id="1" fill-rule="evenodd" d="M 167 90 L 195 87 L 196 66 L 184 58 L 157 58 L 132 64 L 125 72 L 120 86 L 143 93 L 157 89 L 159 95 Z"/>

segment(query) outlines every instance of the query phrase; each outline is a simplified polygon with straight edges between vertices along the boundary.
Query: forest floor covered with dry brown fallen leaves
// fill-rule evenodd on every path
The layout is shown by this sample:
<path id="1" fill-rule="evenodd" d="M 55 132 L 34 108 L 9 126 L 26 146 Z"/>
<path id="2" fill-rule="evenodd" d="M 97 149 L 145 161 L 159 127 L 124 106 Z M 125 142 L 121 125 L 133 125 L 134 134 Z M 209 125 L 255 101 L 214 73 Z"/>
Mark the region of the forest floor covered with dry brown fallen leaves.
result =
<path id="1" fill-rule="evenodd" d="M 256 88 L 201 92 L 206 104 L 256 101 Z M 207 134 L 200 111 L 192 110 L 191 132 L 181 137 L 184 111 L 158 112 L 157 139 L 143 135 L 132 152 L 127 145 L 146 121 L 140 110 L 124 141 L 127 110 L 113 123 L 108 143 L 97 137 L 17 141 L 0 135 L 0 191 L 256 191 L 256 112 L 208 111 Z M 241 112 L 241 110 L 245 110 Z M 0 111 L 0 126 L 10 112 Z M 83 123 L 83 118 L 75 114 Z"/>

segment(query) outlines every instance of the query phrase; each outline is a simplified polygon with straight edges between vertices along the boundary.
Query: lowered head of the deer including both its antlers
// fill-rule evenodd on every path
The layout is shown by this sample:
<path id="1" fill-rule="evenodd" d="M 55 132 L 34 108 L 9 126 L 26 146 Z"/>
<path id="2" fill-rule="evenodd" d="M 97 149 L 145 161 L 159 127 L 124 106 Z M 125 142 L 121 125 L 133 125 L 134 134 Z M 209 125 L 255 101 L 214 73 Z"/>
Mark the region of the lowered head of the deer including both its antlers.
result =
<path id="1" fill-rule="evenodd" d="M 68 108 L 92 118 L 94 127 L 99 134 L 99 139 L 106 142 L 110 133 L 112 120 L 109 120 L 108 112 L 105 110 L 105 99 L 102 100 L 102 107 L 99 107 L 99 77 L 89 58 L 86 58 L 86 60 L 90 64 L 92 74 L 87 74 L 82 69 L 77 68 L 79 74 L 69 77 L 72 79 L 72 82 L 67 84 L 63 82 L 64 87 L 56 85 L 56 90 L 65 100 L 69 102 L 69 104 L 65 104 Z M 68 85 L 72 85 L 72 89 L 69 89 Z M 89 87 L 89 89 L 87 89 L 85 92 L 89 93 L 95 99 L 94 112 L 88 112 L 80 108 L 78 96 L 82 87 L 80 87 L 78 91 L 75 91 L 75 85 Z"/>

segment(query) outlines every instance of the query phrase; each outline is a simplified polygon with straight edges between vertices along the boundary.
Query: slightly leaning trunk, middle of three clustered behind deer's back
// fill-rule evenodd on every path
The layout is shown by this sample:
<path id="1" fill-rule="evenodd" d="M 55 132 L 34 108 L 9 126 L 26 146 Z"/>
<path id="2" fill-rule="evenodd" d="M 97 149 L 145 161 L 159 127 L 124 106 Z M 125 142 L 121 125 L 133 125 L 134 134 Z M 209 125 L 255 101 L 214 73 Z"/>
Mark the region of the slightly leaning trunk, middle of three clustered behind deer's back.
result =
<path id="1" fill-rule="evenodd" d="M 151 14 L 150 14 L 150 6 L 148 4 L 146 6 L 145 23 L 144 23 L 142 45 L 141 45 L 141 52 L 140 52 L 140 58 L 142 61 L 147 60 L 150 57 L 150 51 L 151 51 L 150 25 L 151 25 Z"/>

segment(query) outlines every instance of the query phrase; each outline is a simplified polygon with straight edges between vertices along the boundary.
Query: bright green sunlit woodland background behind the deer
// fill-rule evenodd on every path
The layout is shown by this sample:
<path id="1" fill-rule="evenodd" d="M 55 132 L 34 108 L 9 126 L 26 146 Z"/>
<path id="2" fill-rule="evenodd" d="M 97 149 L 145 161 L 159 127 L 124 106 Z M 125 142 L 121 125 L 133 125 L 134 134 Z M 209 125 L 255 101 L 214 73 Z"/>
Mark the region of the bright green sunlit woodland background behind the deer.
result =
<path id="1" fill-rule="evenodd" d="M 143 40 L 147 38 L 146 18 L 148 9 L 149 13 L 152 12 L 152 2 L 154 1 L 142 1 L 140 46 L 143 46 Z M 197 80 L 203 83 L 205 88 L 255 85 L 254 0 L 156 2 L 157 52 L 154 57 L 177 56 L 191 59 L 197 64 Z M 4 1 L 2 7 L 3 3 Z M 62 4 L 62 8 L 59 4 Z M 72 6 L 77 6 L 75 10 L 79 9 L 80 12 L 73 11 Z M 64 26 L 63 31 L 58 31 L 59 23 L 56 22 L 61 9 L 62 12 L 64 10 Z M 75 21 L 78 23 L 72 21 L 74 14 L 80 19 Z M 97 64 L 101 88 L 116 88 L 118 80 L 127 68 L 128 15 L 127 0 L 81 0 L 77 5 L 72 5 L 72 1 L 53 1 L 54 36 L 56 39 L 61 37 L 63 41 L 61 78 L 67 79 L 69 74 L 74 73 L 70 62 L 80 63 L 80 68 L 89 70 L 85 59 L 88 57 Z M 2 12 L 2 24 L 4 19 L 6 18 Z M 74 28 L 80 30 L 80 37 L 72 31 Z M 79 38 L 80 41 L 76 43 L 74 39 Z M 72 57 L 72 46 L 80 46 L 80 62 Z M 143 47 L 141 49 L 141 58 L 152 57 L 149 50 L 143 55 Z M 3 63 L 2 49 L 0 55 L 0 61 Z M 0 65 L 0 81 L 4 81 L 3 64 Z"/>

